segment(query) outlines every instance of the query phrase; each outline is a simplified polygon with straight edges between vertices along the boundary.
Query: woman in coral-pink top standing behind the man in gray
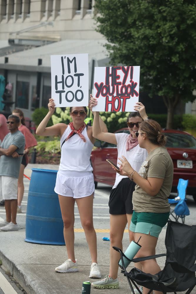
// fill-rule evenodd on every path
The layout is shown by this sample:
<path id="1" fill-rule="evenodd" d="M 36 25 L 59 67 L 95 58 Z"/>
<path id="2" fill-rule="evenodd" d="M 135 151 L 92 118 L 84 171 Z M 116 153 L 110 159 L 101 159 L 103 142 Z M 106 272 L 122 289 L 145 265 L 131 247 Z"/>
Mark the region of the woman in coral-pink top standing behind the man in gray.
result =
<path id="1" fill-rule="evenodd" d="M 31 147 L 34 147 L 37 145 L 37 141 L 35 137 L 31 134 L 29 129 L 25 126 L 25 120 L 24 120 L 24 113 L 20 109 L 14 109 L 12 111 L 13 115 L 16 115 L 20 119 L 20 124 L 19 124 L 19 131 L 23 133 L 24 138 L 25 138 L 25 147 L 24 147 L 24 155 L 22 158 L 22 163 L 20 167 L 20 172 L 19 172 L 19 179 L 18 179 L 18 208 L 17 208 L 17 213 L 21 213 L 21 202 L 23 199 L 24 195 L 24 183 L 23 183 L 23 177 L 24 177 L 24 169 L 28 164 L 28 153 Z"/>

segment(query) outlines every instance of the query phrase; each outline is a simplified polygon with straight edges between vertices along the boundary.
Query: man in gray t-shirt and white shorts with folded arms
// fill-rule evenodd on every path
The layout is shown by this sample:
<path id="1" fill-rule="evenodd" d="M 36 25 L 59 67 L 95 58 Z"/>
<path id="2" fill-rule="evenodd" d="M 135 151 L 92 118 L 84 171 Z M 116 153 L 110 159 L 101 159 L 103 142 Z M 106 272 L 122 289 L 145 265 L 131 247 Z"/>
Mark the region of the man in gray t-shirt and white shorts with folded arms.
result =
<path id="1" fill-rule="evenodd" d="M 8 117 L 8 133 L 0 147 L 0 198 L 5 200 L 6 220 L 0 222 L 3 231 L 16 231 L 18 177 L 24 152 L 25 139 L 19 131 L 18 116 Z"/>

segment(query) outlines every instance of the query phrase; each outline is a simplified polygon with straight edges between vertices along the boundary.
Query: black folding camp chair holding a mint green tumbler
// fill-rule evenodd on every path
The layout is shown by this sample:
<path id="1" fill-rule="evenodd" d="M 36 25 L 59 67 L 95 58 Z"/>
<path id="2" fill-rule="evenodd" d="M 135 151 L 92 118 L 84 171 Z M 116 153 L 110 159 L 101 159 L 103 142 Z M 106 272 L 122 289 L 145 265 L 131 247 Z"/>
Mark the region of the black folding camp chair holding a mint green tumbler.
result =
<path id="1" fill-rule="evenodd" d="M 133 290 L 133 285 L 135 286 L 135 288 L 137 288 L 139 293 L 142 294 L 137 284 L 150 289 L 148 294 L 150 294 L 150 292 L 153 290 L 161 291 L 164 294 L 166 294 L 167 292 L 173 292 L 176 294 L 176 292 L 182 291 L 186 291 L 185 294 L 189 294 L 196 285 L 195 240 L 196 225 L 190 226 L 169 220 L 165 236 L 165 246 L 167 253 L 134 258 L 131 260 L 132 262 L 137 263 L 143 260 L 166 256 L 165 266 L 163 270 L 155 275 L 144 273 L 138 268 L 133 268 L 128 273 L 126 271 L 123 260 L 123 256 L 125 256 L 125 254 L 120 248 L 113 248 L 120 253 L 121 261 L 123 264 L 123 270 L 121 271 L 121 273 L 123 273 L 127 277 L 133 294 L 135 294 Z"/>

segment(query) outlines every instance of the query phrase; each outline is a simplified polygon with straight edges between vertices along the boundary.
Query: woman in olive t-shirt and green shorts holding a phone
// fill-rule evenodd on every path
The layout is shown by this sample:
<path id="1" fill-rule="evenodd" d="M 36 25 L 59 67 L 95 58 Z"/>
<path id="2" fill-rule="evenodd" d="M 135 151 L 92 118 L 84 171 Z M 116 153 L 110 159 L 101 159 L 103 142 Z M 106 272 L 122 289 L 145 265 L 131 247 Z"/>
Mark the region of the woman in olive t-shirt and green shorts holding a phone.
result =
<path id="1" fill-rule="evenodd" d="M 121 161 L 120 174 L 128 175 L 136 183 L 130 230 L 136 241 L 142 236 L 139 242 L 142 247 L 136 257 L 144 257 L 155 254 L 158 236 L 169 218 L 168 197 L 172 188 L 173 163 L 164 147 L 166 138 L 156 121 L 145 120 L 136 136 L 140 147 L 148 152 L 139 172 L 134 171 L 124 156 L 118 159 Z M 156 274 L 160 271 L 155 259 L 144 260 L 141 264 L 145 273 Z M 143 288 L 143 294 L 148 291 Z"/>

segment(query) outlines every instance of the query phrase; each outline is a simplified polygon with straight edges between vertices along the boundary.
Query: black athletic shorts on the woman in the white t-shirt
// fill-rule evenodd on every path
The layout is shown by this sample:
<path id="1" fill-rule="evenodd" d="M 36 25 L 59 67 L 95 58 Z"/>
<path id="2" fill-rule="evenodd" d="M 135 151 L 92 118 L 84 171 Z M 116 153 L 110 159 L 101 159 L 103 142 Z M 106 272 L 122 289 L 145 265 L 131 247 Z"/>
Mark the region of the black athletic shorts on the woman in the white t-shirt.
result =
<path id="1" fill-rule="evenodd" d="M 118 186 L 111 190 L 109 199 L 110 214 L 132 214 L 132 196 L 135 183 L 129 178 L 123 178 Z"/>

